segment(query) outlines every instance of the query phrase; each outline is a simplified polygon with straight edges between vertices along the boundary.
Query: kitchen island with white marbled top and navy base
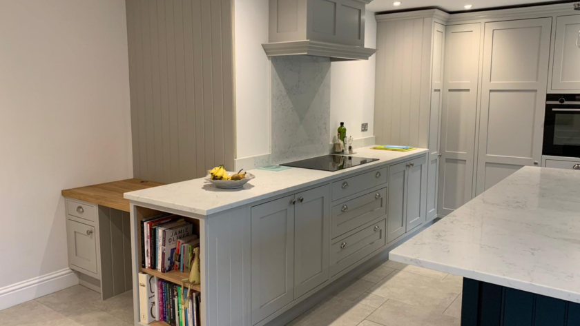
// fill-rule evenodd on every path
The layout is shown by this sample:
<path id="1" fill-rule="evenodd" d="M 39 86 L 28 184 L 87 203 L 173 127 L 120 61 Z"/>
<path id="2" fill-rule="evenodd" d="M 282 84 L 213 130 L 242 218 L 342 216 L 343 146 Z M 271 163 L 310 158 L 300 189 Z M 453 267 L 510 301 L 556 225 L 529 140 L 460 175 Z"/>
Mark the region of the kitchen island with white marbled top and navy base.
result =
<path id="1" fill-rule="evenodd" d="M 580 325 L 580 174 L 523 167 L 389 259 L 463 276 L 462 326 Z"/>

